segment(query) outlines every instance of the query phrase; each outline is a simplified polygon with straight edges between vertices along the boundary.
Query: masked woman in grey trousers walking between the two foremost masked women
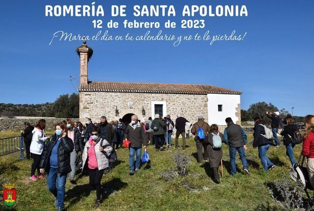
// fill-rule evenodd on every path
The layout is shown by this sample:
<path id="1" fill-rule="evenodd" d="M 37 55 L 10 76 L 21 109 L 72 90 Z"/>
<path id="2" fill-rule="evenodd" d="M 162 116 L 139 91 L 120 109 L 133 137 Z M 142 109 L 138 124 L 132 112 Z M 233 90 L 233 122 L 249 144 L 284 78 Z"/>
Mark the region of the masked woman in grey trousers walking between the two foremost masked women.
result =
<path id="1" fill-rule="evenodd" d="M 79 140 L 80 132 L 78 131 L 77 128 L 74 128 L 73 120 L 67 119 L 66 123 L 67 123 L 67 128 L 68 128 L 68 137 L 72 139 L 73 145 L 74 145 L 74 150 L 71 153 L 71 157 L 70 157 L 70 164 L 71 164 L 72 171 L 69 174 L 69 180 L 70 180 L 70 183 L 76 185 L 76 182 L 74 180 L 75 161 L 77 160 L 78 152 L 83 153 L 83 146 L 82 146 L 82 142 Z"/>

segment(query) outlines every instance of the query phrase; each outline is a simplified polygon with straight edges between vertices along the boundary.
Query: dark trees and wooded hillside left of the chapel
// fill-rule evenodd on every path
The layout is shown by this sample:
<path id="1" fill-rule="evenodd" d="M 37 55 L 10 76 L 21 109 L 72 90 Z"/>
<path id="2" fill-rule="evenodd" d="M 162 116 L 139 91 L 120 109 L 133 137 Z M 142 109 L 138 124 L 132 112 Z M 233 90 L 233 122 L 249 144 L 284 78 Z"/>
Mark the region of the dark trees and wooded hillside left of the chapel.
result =
<path id="1" fill-rule="evenodd" d="M 54 103 L 45 104 L 4 104 L 0 103 L 0 116 L 39 116 L 56 118 L 79 117 L 78 94 L 60 95 Z"/>

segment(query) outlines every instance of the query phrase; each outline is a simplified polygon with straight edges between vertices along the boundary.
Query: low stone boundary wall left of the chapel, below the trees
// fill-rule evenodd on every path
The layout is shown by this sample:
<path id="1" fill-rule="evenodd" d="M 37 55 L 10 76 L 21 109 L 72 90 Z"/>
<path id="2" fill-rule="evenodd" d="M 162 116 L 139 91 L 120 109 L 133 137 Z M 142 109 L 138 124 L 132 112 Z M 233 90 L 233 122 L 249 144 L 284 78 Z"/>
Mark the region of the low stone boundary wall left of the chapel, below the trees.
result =
<path id="1" fill-rule="evenodd" d="M 39 119 L 46 120 L 46 130 L 54 130 L 54 124 L 65 120 L 65 118 L 52 118 L 52 117 L 34 117 L 34 118 L 0 118 L 0 131 L 21 131 L 24 130 L 24 122 L 29 122 L 35 126 Z M 77 122 L 78 119 L 73 119 Z"/>

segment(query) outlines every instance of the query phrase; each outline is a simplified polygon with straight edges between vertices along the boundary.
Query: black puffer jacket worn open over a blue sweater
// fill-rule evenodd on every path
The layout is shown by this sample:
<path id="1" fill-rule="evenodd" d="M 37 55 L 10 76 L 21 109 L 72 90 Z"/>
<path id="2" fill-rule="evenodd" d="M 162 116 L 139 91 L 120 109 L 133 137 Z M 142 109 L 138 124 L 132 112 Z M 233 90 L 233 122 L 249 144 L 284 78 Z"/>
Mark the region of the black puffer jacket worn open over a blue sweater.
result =
<path id="1" fill-rule="evenodd" d="M 45 144 L 43 153 L 39 163 L 39 168 L 47 170 L 50 167 L 50 156 L 53 146 L 56 143 L 56 134 L 52 135 L 51 142 Z M 58 146 L 58 174 L 67 174 L 71 172 L 70 154 L 74 150 L 73 141 L 68 136 L 61 139 L 61 143 Z"/>

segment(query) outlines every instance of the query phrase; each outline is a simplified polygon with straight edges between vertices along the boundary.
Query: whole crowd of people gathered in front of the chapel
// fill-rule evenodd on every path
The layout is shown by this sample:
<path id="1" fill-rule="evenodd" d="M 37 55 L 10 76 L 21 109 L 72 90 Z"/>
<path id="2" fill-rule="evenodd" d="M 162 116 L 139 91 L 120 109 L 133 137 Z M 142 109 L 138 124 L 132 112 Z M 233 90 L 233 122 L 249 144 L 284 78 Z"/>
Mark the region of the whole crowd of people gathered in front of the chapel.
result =
<path id="1" fill-rule="evenodd" d="M 295 132 L 299 130 L 293 117 L 288 115 L 279 128 L 279 112 L 266 112 L 266 116 L 272 120 L 271 130 L 263 125 L 261 116 L 254 118 L 253 148 L 258 148 L 259 158 L 265 172 L 275 167 L 267 157 L 267 151 L 274 145 L 280 147 L 277 133 L 283 136 L 283 144 L 286 146 L 286 154 L 293 165 L 296 163 L 293 153 L 295 143 L 292 141 Z M 110 168 L 108 157 L 113 151 L 122 148 L 125 143 L 129 148 L 129 174 L 133 175 L 140 170 L 142 149 L 148 145 L 155 145 L 155 151 L 165 151 L 172 147 L 172 136 L 175 139 L 174 149 L 179 146 L 179 137 L 182 136 L 182 149 L 185 151 L 189 131 L 194 135 L 197 151 L 197 161 L 200 165 L 209 162 L 213 172 L 213 182 L 219 184 L 220 177 L 218 168 L 222 165 L 222 143 L 229 146 L 231 174 L 236 174 L 236 152 L 243 165 L 243 173 L 250 174 L 249 165 L 245 156 L 247 151 L 247 135 L 240 125 L 237 125 L 228 117 L 225 119 L 227 127 L 220 132 L 217 124 L 209 126 L 203 116 L 198 116 L 195 124 L 190 124 L 181 114 L 177 115 L 176 121 L 170 115 L 162 118 L 155 114 L 154 120 L 149 117 L 146 122 L 141 122 L 136 115 L 131 116 L 131 123 L 124 123 L 122 119 L 107 122 L 105 116 L 100 118 L 99 123 L 93 123 L 87 118 L 83 126 L 80 122 L 66 119 L 55 124 L 53 135 L 46 136 L 46 121 L 41 119 L 35 127 L 25 123 L 22 132 L 26 145 L 26 158 L 33 159 L 29 179 L 46 179 L 47 187 L 55 197 L 54 205 L 58 211 L 64 208 L 65 184 L 68 180 L 76 184 L 76 160 L 78 154 L 82 155 L 82 172 L 87 169 L 89 184 L 96 189 L 96 201 L 94 207 L 99 207 L 102 201 L 104 188 L 101 180 L 105 170 Z M 173 134 L 174 130 L 176 131 Z M 269 131 L 268 131 L 269 130 Z M 269 138 L 269 134 L 272 137 Z M 314 116 L 305 118 L 305 133 L 302 137 L 302 155 L 307 157 L 307 169 L 310 182 L 314 186 Z M 135 158 L 135 161 L 134 161 Z M 35 171 L 37 169 L 37 176 Z M 69 176 L 68 176 L 69 175 Z"/>

